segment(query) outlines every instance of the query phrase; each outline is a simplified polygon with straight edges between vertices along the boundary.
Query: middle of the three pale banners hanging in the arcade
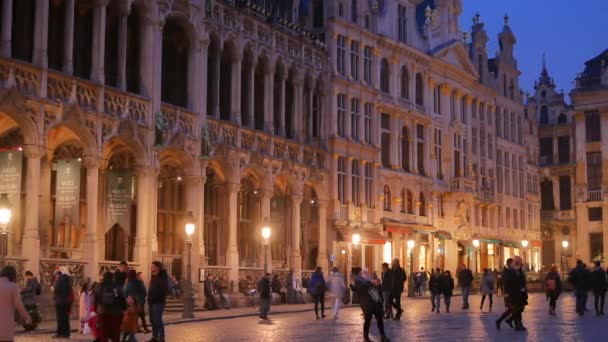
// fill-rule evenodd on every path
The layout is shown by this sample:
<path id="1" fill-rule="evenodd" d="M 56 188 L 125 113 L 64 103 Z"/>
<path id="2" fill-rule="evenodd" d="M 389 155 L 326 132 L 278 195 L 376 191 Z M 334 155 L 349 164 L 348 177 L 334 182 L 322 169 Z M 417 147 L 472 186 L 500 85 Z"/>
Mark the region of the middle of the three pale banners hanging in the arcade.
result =
<path id="1" fill-rule="evenodd" d="M 60 160 L 55 163 L 55 229 L 78 232 L 80 229 L 80 162 Z M 66 241 L 71 239 L 66 237 Z"/>

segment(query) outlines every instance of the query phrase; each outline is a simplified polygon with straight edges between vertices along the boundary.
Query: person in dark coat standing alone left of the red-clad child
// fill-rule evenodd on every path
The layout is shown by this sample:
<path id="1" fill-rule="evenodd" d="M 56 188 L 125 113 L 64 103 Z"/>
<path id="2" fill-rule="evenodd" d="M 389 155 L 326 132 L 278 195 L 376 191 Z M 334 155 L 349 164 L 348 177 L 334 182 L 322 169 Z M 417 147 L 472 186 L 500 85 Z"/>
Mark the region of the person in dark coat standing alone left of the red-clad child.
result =
<path id="1" fill-rule="evenodd" d="M 70 338 L 70 312 L 74 302 L 74 292 L 70 285 L 70 277 L 59 270 L 55 271 L 53 299 L 57 317 L 57 333 L 54 337 Z"/>

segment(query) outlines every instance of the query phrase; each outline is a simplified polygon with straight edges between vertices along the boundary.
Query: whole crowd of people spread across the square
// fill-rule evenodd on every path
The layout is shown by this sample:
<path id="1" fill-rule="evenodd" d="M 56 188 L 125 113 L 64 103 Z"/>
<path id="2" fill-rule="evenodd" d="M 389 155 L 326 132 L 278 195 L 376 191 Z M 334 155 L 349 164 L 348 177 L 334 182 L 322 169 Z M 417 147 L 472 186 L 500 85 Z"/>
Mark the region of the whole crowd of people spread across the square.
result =
<path id="1" fill-rule="evenodd" d="M 480 310 L 488 303 L 492 311 L 494 294 L 500 290 L 503 294 L 505 311 L 496 320 L 496 328 L 501 329 L 506 323 L 516 331 L 525 331 L 523 312 L 528 305 L 526 273 L 521 257 L 507 259 L 502 272 L 484 269 L 480 274 L 479 293 L 481 294 Z M 423 296 L 428 290 L 431 299 L 431 312 L 440 313 L 441 297 L 445 312 L 450 312 L 455 281 L 449 270 L 436 268 L 429 275 L 424 268 L 412 276 L 413 293 Z M 70 314 L 74 302 L 77 301 L 80 320 L 79 332 L 90 334 L 95 341 L 135 341 L 135 334 L 152 333 L 151 342 L 164 341 L 163 312 L 166 298 L 169 295 L 179 296 L 175 290 L 178 281 L 169 277 L 162 263 L 155 261 L 151 265 L 151 279 L 148 287 L 141 278 L 141 273 L 128 268 L 126 262 L 121 262 L 114 272 L 106 272 L 99 282 L 83 283 L 77 296 L 74 295 L 70 276 L 56 270 L 53 274 L 52 286 L 56 313 L 55 338 L 70 337 Z M 608 290 L 608 272 L 599 261 L 593 267 L 588 267 L 578 260 L 576 267 L 569 275 L 568 281 L 574 288 L 576 297 L 576 312 L 585 315 L 589 293 L 594 296 L 594 309 L 597 316 L 604 315 L 604 304 Z M 469 309 L 469 293 L 473 286 L 473 272 L 461 265 L 456 275 L 458 286 L 462 292 L 463 310 Z M 25 273 L 25 286 L 20 288 L 16 283 L 17 273 L 14 267 L 6 266 L 0 272 L 0 341 L 11 341 L 14 336 L 15 324 L 18 321 L 25 327 L 39 320 L 36 297 L 42 292 L 42 287 L 31 272 Z M 389 265 L 382 264 L 382 272 L 378 276 L 367 269 L 354 267 L 351 271 L 347 286 L 346 277 L 337 267 L 333 267 L 329 276 L 323 275 L 321 267 L 317 267 L 309 279 L 303 284 L 314 303 L 316 319 L 326 318 L 325 297 L 329 293 L 334 298 L 332 318 L 338 319 L 343 304 L 358 303 L 364 316 L 363 336 L 369 339 L 369 329 L 373 318 L 376 319 L 382 341 L 389 341 L 385 334 L 384 320 L 399 320 L 404 312 L 401 306 L 401 296 L 407 281 L 407 274 L 400 266 L 399 260 L 394 259 Z M 556 266 L 552 266 L 544 278 L 544 289 L 549 302 L 549 315 L 555 315 L 557 301 L 563 291 L 563 283 Z M 257 282 L 247 276 L 239 283 L 239 290 L 254 301 L 259 298 L 259 317 L 266 320 L 270 312 L 273 298 L 280 302 L 301 303 L 302 292 L 299 290 L 298 279 L 290 271 L 285 280 L 265 273 Z M 351 298 L 352 291 L 352 298 Z M 205 307 L 209 310 L 219 307 L 215 295 L 219 295 L 221 305 L 231 307 L 228 296 L 228 282 L 221 276 L 215 279 L 208 274 L 204 281 Z M 146 305 L 147 304 L 147 305 Z M 152 330 L 146 323 L 146 308 Z M 19 316 L 19 317 L 16 317 Z M 38 317 L 37 317 L 38 316 Z M 20 319 L 19 319 L 20 318 Z M 17 320 L 19 319 L 19 320 Z M 141 321 L 141 325 L 139 324 Z M 39 321 L 38 321 L 39 322 Z"/>

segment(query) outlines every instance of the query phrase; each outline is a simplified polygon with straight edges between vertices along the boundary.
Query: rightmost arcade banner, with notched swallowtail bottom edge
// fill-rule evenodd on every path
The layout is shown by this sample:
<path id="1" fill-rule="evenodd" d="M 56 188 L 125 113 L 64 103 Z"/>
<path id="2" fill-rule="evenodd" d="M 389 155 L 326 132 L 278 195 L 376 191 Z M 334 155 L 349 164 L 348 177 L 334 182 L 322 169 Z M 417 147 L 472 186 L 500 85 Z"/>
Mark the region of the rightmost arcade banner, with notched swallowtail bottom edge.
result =
<path id="1" fill-rule="evenodd" d="M 133 172 L 128 169 L 106 173 L 106 231 L 115 224 L 131 231 L 131 186 Z"/>

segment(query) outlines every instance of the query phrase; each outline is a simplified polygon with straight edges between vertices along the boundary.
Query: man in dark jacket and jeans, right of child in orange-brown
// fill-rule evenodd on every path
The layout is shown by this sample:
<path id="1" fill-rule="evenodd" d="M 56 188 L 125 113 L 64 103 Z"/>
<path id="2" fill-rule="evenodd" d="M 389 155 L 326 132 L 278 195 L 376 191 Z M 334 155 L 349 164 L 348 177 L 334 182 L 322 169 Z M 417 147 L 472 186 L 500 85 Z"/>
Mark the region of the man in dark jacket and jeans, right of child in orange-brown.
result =
<path id="1" fill-rule="evenodd" d="M 150 324 L 152 324 L 152 339 L 150 342 L 165 341 L 165 325 L 163 311 L 165 299 L 169 292 L 169 277 L 160 261 L 152 262 L 152 279 L 148 289 L 148 305 L 150 305 Z"/>

